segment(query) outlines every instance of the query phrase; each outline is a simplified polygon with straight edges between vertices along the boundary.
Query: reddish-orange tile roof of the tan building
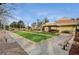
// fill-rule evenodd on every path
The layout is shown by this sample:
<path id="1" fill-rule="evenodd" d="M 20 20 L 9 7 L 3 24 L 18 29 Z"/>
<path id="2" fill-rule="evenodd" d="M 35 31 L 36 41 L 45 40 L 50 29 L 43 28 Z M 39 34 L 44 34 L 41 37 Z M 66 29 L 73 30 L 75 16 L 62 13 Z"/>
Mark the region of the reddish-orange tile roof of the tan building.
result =
<path id="1" fill-rule="evenodd" d="M 48 25 L 75 25 L 77 23 L 79 23 L 79 20 L 71 20 L 69 18 L 60 18 L 59 20 L 57 20 L 55 22 L 46 23 L 46 24 L 44 24 L 44 26 L 48 26 Z"/>

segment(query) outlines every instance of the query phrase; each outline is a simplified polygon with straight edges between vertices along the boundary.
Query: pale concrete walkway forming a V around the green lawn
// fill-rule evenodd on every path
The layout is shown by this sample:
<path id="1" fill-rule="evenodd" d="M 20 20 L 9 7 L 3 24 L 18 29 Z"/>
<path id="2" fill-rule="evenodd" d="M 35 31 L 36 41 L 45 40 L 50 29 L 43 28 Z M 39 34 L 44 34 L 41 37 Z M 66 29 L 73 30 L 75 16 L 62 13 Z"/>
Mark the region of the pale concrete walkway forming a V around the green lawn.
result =
<path id="1" fill-rule="evenodd" d="M 41 43 L 34 43 L 15 33 L 11 33 L 11 32 L 8 33 L 30 55 L 68 55 L 69 54 L 71 44 L 68 45 L 67 51 L 63 50 L 60 44 L 69 41 L 72 38 L 71 34 L 63 34 Z"/>

